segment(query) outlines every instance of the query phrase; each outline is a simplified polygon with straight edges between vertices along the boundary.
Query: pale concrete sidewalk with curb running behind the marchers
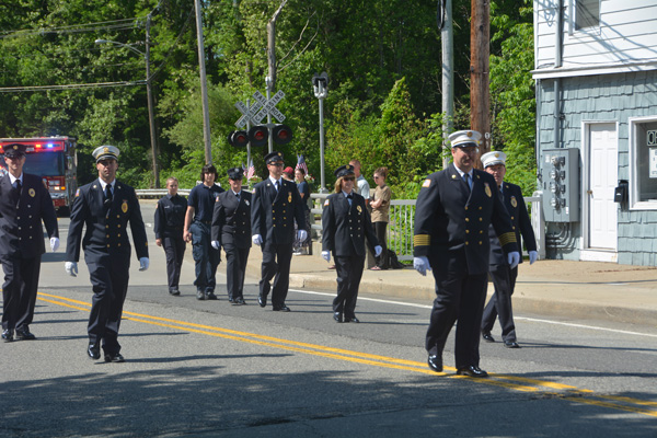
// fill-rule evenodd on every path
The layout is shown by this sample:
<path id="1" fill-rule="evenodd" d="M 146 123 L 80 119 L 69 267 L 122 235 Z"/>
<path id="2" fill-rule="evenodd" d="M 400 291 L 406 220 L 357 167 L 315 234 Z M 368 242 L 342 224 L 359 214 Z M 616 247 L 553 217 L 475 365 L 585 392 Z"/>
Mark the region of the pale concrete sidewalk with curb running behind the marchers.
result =
<path id="1" fill-rule="evenodd" d="M 333 261 L 332 261 L 333 262 Z M 247 274 L 261 276 L 262 251 L 251 249 Z M 315 255 L 292 257 L 290 288 L 335 290 L 335 270 Z M 430 273 L 413 268 L 369 270 L 362 275 L 361 293 L 381 297 L 435 298 Z M 493 285 L 488 293 L 493 292 Z M 538 261 L 520 265 L 514 310 L 544 315 L 597 319 L 623 323 L 657 324 L 657 268 L 602 262 Z"/>

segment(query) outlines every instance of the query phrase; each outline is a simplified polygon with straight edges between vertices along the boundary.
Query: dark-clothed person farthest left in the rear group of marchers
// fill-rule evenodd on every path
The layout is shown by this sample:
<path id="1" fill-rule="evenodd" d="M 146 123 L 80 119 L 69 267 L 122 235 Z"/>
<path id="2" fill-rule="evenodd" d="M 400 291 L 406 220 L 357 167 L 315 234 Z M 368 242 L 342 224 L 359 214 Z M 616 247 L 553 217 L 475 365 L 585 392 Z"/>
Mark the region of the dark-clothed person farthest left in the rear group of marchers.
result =
<path id="1" fill-rule="evenodd" d="M 166 278 L 169 293 L 180 296 L 178 281 L 185 255 L 183 229 L 187 199 L 177 194 L 178 182 L 175 177 L 166 180 L 166 196 L 158 200 L 155 207 L 155 244 L 164 249 L 166 255 Z"/>

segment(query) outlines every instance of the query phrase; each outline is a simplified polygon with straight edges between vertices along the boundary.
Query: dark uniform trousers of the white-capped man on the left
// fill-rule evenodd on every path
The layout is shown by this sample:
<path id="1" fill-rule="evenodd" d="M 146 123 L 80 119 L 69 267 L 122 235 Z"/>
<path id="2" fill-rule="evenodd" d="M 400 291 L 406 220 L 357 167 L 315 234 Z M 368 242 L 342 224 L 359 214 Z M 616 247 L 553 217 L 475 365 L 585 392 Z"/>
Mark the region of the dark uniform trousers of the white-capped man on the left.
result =
<path id="1" fill-rule="evenodd" d="M 88 326 L 89 343 L 97 344 L 103 339 L 105 354 L 118 354 L 118 328 L 128 291 L 130 257 L 112 256 L 88 246 L 84 261 L 93 290 Z"/>

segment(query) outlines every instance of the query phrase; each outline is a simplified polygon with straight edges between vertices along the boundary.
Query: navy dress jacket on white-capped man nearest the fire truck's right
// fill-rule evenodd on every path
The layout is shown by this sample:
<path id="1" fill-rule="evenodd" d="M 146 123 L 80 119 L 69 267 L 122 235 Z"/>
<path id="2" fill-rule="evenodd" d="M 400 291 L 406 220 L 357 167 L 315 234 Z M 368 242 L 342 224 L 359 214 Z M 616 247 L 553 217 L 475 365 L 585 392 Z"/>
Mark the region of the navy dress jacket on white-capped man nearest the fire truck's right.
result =
<path id="1" fill-rule="evenodd" d="M 129 260 L 128 223 L 137 257 L 148 257 L 148 240 L 135 189 L 117 181 L 107 214 L 104 209 L 104 199 L 105 195 L 99 180 L 78 189 L 71 208 L 66 260 L 69 262 L 80 260 L 80 241 L 85 257 L 95 258 L 96 255 L 108 254 Z M 84 238 L 82 238 L 83 226 L 87 226 Z"/>

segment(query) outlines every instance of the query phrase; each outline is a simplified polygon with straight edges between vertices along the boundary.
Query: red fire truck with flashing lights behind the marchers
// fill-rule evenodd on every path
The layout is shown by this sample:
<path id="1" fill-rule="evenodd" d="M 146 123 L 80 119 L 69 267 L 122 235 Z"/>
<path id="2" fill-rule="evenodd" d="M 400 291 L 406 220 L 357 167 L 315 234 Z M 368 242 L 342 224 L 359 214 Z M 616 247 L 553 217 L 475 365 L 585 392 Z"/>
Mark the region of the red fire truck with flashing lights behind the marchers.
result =
<path id="1" fill-rule="evenodd" d="M 7 173 L 4 147 L 25 145 L 23 172 L 39 175 L 58 212 L 70 211 L 78 189 L 77 139 L 74 137 L 0 138 L 0 174 Z"/>

